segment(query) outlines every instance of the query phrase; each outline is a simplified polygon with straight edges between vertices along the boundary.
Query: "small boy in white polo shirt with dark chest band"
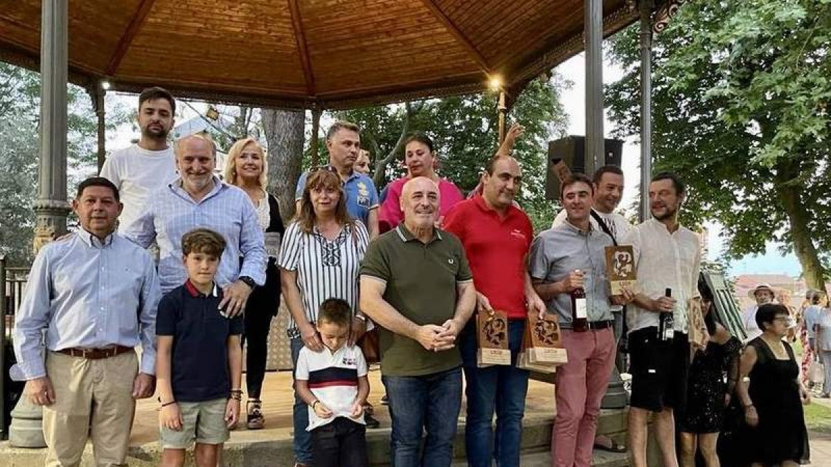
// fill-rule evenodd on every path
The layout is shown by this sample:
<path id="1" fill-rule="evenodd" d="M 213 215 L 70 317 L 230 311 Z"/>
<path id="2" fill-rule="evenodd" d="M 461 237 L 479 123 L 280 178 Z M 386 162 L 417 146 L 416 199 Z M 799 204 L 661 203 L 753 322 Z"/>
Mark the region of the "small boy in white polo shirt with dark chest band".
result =
<path id="1" fill-rule="evenodd" d="M 325 347 L 303 347 L 294 379 L 297 394 L 309 406 L 314 467 L 366 467 L 363 406 L 369 395 L 361 347 L 347 345 L 352 308 L 329 298 L 317 312 L 317 332 Z"/>

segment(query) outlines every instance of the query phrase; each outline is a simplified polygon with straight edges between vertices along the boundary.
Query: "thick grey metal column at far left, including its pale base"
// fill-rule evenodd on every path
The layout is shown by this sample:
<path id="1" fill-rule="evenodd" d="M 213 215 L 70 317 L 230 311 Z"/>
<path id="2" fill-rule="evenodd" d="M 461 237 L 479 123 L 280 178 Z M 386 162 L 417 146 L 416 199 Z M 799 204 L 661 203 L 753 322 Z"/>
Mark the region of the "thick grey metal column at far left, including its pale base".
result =
<path id="1" fill-rule="evenodd" d="M 41 8 L 41 158 L 34 204 L 35 251 L 66 233 L 66 73 L 67 0 L 42 0 Z M 22 396 L 12 410 L 9 442 L 44 447 L 42 409 Z"/>

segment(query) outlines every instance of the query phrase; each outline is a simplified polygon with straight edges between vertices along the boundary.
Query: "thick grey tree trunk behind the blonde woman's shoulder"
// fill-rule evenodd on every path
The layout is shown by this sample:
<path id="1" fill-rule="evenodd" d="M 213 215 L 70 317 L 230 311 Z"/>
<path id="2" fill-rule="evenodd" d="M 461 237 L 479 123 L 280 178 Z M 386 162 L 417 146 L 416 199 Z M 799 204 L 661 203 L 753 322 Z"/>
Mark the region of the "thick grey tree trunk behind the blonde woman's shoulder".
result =
<path id="1" fill-rule="evenodd" d="M 263 130 L 268 142 L 268 192 L 277 196 L 283 222 L 294 217 L 294 189 L 303 157 L 303 111 L 263 109 Z"/>

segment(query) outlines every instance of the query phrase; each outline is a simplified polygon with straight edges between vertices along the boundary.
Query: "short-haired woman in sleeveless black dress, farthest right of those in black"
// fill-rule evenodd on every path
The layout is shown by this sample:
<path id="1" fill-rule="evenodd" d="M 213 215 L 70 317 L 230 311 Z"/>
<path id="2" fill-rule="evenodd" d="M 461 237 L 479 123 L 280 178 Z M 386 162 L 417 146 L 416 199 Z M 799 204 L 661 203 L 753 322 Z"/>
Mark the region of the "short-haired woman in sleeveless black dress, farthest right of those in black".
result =
<path id="1" fill-rule="evenodd" d="M 750 341 L 740 359 L 738 394 L 745 410 L 745 454 L 753 467 L 793 467 L 809 462 L 803 404 L 808 392 L 799 382 L 794 350 L 782 339 L 793 327 L 788 308 L 766 304 L 756 312 L 762 335 Z"/>

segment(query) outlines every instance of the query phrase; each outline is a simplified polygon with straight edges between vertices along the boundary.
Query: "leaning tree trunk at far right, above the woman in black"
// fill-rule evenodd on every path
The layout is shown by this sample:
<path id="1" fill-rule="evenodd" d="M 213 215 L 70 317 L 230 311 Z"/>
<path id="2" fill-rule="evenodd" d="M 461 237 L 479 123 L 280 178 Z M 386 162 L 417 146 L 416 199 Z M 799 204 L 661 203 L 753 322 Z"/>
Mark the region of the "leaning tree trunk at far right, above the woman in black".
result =
<path id="1" fill-rule="evenodd" d="M 814 290 L 825 290 L 824 268 L 808 229 L 810 214 L 799 199 L 799 161 L 781 159 L 776 164 L 774 177 L 776 192 L 784 206 L 790 224 L 790 238 L 794 254 L 802 266 L 805 285 Z"/>

